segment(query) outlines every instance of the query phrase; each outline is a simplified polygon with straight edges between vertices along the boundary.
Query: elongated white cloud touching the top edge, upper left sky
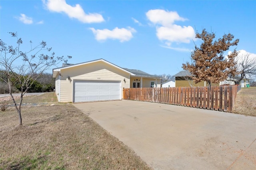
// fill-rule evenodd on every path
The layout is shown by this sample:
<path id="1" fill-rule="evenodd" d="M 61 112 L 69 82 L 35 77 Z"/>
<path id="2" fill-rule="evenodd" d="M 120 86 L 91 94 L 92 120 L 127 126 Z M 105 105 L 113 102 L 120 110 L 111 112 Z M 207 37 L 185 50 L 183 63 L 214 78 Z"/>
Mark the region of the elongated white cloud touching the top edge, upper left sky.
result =
<path id="1" fill-rule="evenodd" d="M 69 18 L 76 18 L 82 23 L 99 23 L 103 22 L 104 18 L 98 13 L 86 14 L 79 4 L 71 6 L 66 3 L 66 0 L 43 0 L 46 8 L 52 12 L 64 12 Z"/>

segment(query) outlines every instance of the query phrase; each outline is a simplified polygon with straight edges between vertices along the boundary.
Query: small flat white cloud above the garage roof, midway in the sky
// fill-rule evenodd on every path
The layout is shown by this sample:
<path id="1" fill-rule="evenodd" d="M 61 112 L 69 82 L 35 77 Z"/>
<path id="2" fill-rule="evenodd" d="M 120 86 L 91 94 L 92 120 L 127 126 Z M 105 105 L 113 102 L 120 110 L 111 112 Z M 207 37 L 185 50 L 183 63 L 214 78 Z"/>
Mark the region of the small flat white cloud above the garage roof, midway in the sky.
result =
<path id="1" fill-rule="evenodd" d="M 136 30 L 132 27 L 126 28 L 114 28 L 113 30 L 109 29 L 94 29 L 90 28 L 95 35 L 97 41 L 104 41 L 106 39 L 118 39 L 120 42 L 129 41 L 135 33 Z"/>

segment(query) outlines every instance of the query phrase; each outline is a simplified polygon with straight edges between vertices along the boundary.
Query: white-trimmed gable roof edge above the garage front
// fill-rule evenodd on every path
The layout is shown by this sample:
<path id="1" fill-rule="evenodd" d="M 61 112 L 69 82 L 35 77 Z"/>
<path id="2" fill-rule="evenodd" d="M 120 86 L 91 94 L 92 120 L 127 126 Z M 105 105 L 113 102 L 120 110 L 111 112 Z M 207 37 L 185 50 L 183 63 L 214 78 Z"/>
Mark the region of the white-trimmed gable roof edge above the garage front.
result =
<path id="1" fill-rule="evenodd" d="M 87 62 L 78 63 L 78 64 L 62 64 L 62 67 L 52 69 L 53 77 L 56 77 L 59 74 L 60 70 L 62 70 L 62 69 L 71 68 L 71 67 L 75 67 L 75 66 L 86 65 L 86 64 L 90 64 L 90 63 L 96 63 L 96 62 L 99 62 L 99 61 L 110 64 L 110 65 L 112 65 L 112 66 L 114 66 L 114 67 L 116 67 L 120 70 L 123 70 L 124 72 L 127 72 L 131 75 L 135 75 L 132 72 L 129 72 L 128 70 L 125 70 L 124 68 L 121 68 L 120 66 L 117 66 L 116 64 L 110 63 L 109 61 L 106 61 L 104 59 L 97 59 L 97 60 L 87 61 Z"/>

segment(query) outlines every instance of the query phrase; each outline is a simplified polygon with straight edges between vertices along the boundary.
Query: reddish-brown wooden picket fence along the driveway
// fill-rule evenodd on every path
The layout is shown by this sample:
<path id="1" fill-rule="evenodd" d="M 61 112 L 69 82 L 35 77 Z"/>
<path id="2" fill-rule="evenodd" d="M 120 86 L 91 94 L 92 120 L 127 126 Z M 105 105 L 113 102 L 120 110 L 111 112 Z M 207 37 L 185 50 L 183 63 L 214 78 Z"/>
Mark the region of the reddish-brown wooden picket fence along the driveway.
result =
<path id="1" fill-rule="evenodd" d="M 238 88 L 238 86 L 124 88 L 124 99 L 232 112 Z"/>

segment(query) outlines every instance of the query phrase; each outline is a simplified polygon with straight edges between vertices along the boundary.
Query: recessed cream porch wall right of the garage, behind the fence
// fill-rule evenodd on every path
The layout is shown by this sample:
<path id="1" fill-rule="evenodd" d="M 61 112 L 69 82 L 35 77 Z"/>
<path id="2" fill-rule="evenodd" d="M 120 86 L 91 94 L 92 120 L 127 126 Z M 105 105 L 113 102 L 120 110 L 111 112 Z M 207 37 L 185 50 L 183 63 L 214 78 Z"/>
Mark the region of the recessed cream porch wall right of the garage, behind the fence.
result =
<path id="1" fill-rule="evenodd" d="M 142 80 L 142 86 L 141 86 L 141 80 Z M 140 87 L 144 87 L 144 88 L 150 87 L 151 82 L 156 82 L 156 87 L 160 87 L 160 84 L 161 84 L 160 79 L 130 76 L 130 88 L 133 88 L 133 82 L 140 82 Z"/>

